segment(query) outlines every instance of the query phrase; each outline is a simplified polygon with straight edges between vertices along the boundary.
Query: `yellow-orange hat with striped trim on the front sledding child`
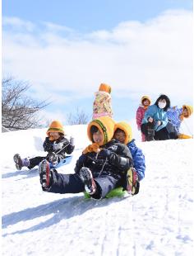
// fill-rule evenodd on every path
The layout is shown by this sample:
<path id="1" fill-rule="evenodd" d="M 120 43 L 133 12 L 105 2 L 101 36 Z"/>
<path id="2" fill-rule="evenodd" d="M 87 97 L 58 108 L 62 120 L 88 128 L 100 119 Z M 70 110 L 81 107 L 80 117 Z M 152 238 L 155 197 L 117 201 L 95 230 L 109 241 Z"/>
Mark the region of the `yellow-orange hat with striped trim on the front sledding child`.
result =
<path id="1" fill-rule="evenodd" d="M 104 145 L 113 138 L 115 121 L 109 116 L 100 116 L 98 119 L 90 121 L 87 128 L 87 135 L 90 141 L 92 141 L 92 135 L 90 132 L 91 126 L 96 126 L 104 135 L 104 140 L 99 145 Z"/>

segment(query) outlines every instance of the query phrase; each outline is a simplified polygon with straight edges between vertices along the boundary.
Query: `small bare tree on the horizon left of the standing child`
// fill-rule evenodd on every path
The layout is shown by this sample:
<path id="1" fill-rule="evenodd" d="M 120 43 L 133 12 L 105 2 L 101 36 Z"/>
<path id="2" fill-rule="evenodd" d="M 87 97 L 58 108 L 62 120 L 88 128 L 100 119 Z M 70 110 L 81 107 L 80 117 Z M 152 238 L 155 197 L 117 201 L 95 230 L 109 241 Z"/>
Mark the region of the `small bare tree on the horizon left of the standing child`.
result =
<path id="1" fill-rule="evenodd" d="M 85 125 L 88 123 L 89 116 L 85 114 L 83 110 L 80 110 L 79 107 L 76 108 L 76 114 L 70 113 L 67 116 L 68 125 Z"/>

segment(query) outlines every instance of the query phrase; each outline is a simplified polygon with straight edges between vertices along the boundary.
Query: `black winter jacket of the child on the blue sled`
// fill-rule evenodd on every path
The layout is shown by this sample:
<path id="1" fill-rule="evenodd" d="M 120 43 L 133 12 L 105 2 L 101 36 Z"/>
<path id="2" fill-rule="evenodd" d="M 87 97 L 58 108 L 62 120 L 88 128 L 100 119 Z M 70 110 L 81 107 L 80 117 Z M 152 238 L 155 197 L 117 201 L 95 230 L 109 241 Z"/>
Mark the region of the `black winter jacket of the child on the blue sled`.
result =
<path id="1" fill-rule="evenodd" d="M 53 149 L 53 144 L 54 143 L 55 144 L 62 143 L 63 144 L 62 148 L 64 148 L 64 149 L 54 150 Z M 46 139 L 44 140 L 43 147 L 44 147 L 44 151 L 47 151 L 48 153 L 54 152 L 54 153 L 58 154 L 58 158 L 60 160 L 65 158 L 66 153 L 67 154 L 72 154 L 72 152 L 75 148 L 75 146 L 71 145 L 69 140 L 67 140 L 67 138 L 65 138 L 63 135 L 60 136 L 58 138 L 58 140 L 49 140 L 49 137 L 46 137 Z"/>

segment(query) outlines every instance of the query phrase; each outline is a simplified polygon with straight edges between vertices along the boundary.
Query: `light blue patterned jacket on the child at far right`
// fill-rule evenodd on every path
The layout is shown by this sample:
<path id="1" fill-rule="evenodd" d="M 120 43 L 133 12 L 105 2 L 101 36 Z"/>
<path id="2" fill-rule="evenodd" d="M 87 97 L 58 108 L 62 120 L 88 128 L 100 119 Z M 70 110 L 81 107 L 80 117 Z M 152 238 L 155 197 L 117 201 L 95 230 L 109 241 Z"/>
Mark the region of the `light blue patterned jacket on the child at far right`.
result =
<path id="1" fill-rule="evenodd" d="M 181 119 L 179 118 L 181 114 L 182 114 L 182 108 L 178 108 L 177 106 L 170 107 L 167 111 L 169 122 L 178 131 L 178 133 L 179 133 L 181 122 L 182 122 Z"/>

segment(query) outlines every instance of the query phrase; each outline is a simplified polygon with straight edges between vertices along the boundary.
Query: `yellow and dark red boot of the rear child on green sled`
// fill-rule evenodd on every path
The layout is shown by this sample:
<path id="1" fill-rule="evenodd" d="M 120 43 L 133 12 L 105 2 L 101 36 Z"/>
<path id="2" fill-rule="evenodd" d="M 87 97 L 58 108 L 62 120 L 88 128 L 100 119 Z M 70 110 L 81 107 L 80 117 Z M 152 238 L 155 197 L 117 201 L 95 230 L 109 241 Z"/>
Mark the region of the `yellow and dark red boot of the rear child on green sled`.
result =
<path id="1" fill-rule="evenodd" d="M 128 194 L 136 195 L 140 189 L 140 182 L 135 168 L 129 168 L 127 171 L 127 192 Z"/>

